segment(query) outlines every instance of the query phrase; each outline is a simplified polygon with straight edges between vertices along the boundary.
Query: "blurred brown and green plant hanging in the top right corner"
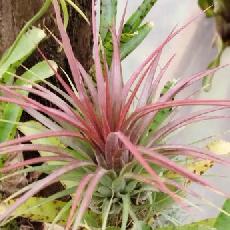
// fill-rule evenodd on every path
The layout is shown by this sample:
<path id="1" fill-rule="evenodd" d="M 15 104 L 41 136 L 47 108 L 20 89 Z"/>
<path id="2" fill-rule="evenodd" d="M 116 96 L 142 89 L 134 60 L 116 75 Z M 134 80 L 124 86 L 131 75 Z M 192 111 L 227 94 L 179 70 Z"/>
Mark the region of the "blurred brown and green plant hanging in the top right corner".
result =
<path id="1" fill-rule="evenodd" d="M 205 10 L 207 17 L 214 17 L 216 21 L 217 34 L 215 44 L 217 55 L 209 64 L 209 68 L 220 65 L 222 53 L 230 44 L 230 1 L 229 0 L 198 0 L 201 9 Z M 206 91 L 211 89 L 213 76 L 208 76 L 203 80 Z"/>

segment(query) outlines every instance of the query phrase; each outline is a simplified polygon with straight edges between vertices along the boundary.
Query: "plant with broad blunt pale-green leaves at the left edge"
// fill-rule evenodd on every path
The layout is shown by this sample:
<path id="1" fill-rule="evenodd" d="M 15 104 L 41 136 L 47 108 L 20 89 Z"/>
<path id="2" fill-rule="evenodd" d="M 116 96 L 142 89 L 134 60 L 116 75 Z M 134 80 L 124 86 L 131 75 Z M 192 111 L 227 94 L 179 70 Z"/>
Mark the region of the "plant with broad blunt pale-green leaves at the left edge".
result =
<path id="1" fill-rule="evenodd" d="M 21 78 L 24 78 L 25 80 L 27 79 L 30 82 L 25 82 L 20 79 L 15 80 L 14 78 L 14 73 L 17 68 L 31 55 L 45 36 L 43 30 L 33 27 L 20 37 L 17 41 L 17 45 L 11 51 L 11 54 L 8 54 L 8 57 L 5 61 L 2 61 L 2 64 L 0 65 L 1 83 L 30 86 L 33 82 L 42 81 L 54 74 L 47 62 L 42 61 L 37 63 L 31 69 L 26 70 L 21 76 Z M 57 69 L 57 65 L 53 61 L 50 61 L 50 64 L 54 69 Z M 34 74 L 38 77 L 34 77 Z M 24 93 L 24 95 L 27 94 Z M 14 104 L 1 103 L 0 110 L 0 142 L 3 142 L 14 137 L 16 131 L 16 125 L 14 122 L 19 121 L 22 109 Z M 9 120 L 12 123 L 8 123 Z M 5 160 L 5 157 L 1 157 L 1 165 L 3 165 Z"/>

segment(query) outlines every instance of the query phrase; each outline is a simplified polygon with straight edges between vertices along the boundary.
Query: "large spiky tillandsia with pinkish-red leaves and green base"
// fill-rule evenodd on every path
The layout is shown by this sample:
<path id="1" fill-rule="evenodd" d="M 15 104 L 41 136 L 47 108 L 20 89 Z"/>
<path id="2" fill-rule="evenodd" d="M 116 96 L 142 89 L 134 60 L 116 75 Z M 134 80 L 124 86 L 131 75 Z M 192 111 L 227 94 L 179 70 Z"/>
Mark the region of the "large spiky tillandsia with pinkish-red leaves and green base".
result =
<path id="1" fill-rule="evenodd" d="M 1 224 L 26 213 L 34 219 L 46 212 L 44 207 L 48 209 L 49 202 L 55 200 L 56 209 L 49 209 L 43 221 L 64 223 L 65 229 L 148 229 L 150 226 L 155 228 L 152 222 L 154 217 L 157 218 L 156 214 L 172 203 L 184 208 L 193 205 L 184 194 L 190 193 L 205 199 L 186 186 L 188 181 L 228 196 L 184 164 L 188 160 L 195 163 L 206 160 L 229 165 L 228 159 L 207 149 L 165 143 L 168 135 L 194 122 L 228 118 L 217 112 L 229 109 L 230 100 L 176 98 L 178 93 L 217 68 L 178 80 L 175 84 L 160 84 L 174 58 L 170 57 L 158 69 L 165 46 L 193 20 L 173 30 L 124 82 L 119 48 L 125 11 L 118 31 L 115 24 L 110 27 L 113 55 L 111 65 L 108 65 L 103 46 L 99 45 L 93 1 L 94 83 L 73 54 L 58 1 L 53 0 L 53 5 L 61 35 L 61 41 L 58 42 L 63 46 L 72 75 L 67 76 L 68 83 L 64 81 L 63 72 L 53 68 L 40 51 L 55 72 L 63 91 L 57 91 L 54 87 L 52 91 L 18 76 L 32 87 L 0 85 L 1 102 L 21 106 L 35 119 L 17 122 L 21 137 L 1 143 L 0 154 L 22 151 L 38 151 L 41 154 L 40 157 L 5 166 L 0 172 L 6 174 L 17 170 L 16 174 L 31 171 L 46 173 L 45 177 L 5 200 L 1 206 L 4 209 L 5 205 L 0 215 Z M 22 92 L 45 98 L 52 106 L 41 104 Z M 184 106 L 208 108 L 167 119 L 169 114 L 176 113 L 179 107 Z M 65 186 L 63 191 L 46 199 L 35 197 L 56 181 Z M 68 202 L 57 201 L 67 195 L 71 197 Z M 48 206 L 44 206 L 39 213 L 44 203 Z M 23 206 L 22 212 L 20 207 Z M 31 209 L 36 210 L 34 215 L 29 214 Z M 54 213 L 57 216 L 52 216 Z"/>

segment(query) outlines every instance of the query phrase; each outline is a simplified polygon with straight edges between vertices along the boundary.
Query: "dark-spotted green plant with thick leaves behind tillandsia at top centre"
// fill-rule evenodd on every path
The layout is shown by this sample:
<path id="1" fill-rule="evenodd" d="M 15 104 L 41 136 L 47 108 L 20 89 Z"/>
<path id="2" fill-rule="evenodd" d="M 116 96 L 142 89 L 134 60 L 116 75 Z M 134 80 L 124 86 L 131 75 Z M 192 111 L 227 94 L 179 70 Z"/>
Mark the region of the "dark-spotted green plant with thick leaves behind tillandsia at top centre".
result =
<path id="1" fill-rule="evenodd" d="M 142 22 L 157 0 L 143 0 L 138 9 L 121 27 L 120 52 L 121 59 L 127 57 L 149 34 L 152 23 Z M 105 48 L 107 62 L 110 64 L 113 53 L 112 35 L 110 28 L 116 24 L 117 0 L 102 0 L 100 14 L 100 37 Z M 124 20 L 123 15 L 123 19 Z M 123 24 L 123 22 L 122 22 Z M 122 25 L 123 26 L 123 25 Z"/>

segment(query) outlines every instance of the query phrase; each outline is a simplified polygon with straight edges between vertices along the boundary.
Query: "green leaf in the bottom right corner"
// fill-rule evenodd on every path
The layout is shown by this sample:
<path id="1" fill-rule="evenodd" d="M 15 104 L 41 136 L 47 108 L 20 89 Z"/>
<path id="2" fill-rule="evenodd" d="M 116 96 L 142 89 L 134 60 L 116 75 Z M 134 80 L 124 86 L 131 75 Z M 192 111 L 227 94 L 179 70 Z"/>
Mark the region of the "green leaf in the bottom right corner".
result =
<path id="1" fill-rule="evenodd" d="M 220 215 L 216 219 L 215 228 L 217 230 L 227 230 L 230 229 L 230 199 L 228 199 L 223 206 L 223 210 L 229 213 L 227 216 L 224 213 L 220 213 Z"/>

